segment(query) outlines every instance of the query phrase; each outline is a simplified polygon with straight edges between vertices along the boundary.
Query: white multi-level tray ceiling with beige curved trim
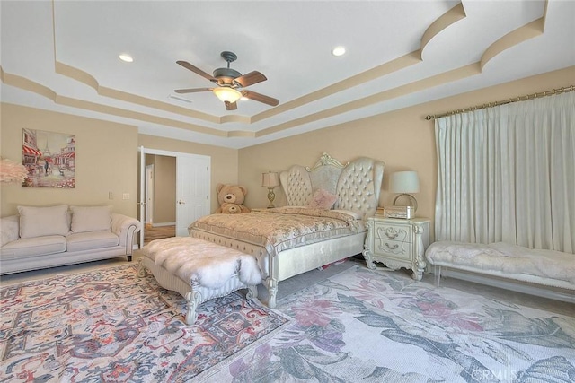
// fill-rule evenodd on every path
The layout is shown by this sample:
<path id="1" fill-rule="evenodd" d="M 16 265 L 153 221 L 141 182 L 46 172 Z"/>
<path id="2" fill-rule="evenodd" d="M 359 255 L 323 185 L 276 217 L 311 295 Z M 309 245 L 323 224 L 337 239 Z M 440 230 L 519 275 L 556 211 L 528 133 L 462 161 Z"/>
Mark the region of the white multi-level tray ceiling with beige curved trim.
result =
<path id="1" fill-rule="evenodd" d="M 561 0 L 44 0 L 0 12 L 3 102 L 230 148 L 575 64 L 575 2 Z M 228 111 L 210 91 L 174 92 L 214 85 L 177 60 L 212 74 L 226 50 L 235 70 L 265 74 L 246 89 L 278 106 Z"/>

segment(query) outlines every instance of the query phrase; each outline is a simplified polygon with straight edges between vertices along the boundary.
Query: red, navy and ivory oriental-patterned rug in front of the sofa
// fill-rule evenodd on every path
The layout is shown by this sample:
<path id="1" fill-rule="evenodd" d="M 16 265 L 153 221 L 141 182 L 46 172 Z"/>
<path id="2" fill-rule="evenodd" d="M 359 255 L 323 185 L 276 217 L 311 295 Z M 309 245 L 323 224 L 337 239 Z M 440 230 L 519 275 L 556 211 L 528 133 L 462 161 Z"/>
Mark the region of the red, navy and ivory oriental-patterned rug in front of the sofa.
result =
<path id="1" fill-rule="evenodd" d="M 60 275 L 0 290 L 0 381 L 184 382 L 291 319 L 242 292 L 199 305 L 137 266 Z"/>

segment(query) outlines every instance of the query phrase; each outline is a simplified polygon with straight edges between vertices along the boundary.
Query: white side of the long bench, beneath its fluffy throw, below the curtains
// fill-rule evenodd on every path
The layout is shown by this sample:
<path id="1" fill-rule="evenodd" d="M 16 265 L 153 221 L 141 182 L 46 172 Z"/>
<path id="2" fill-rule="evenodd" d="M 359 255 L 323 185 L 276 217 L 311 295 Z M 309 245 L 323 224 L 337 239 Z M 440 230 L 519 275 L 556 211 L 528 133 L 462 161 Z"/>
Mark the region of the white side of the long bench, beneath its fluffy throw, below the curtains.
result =
<path id="1" fill-rule="evenodd" d="M 433 273 L 433 267 L 429 270 Z M 510 290 L 512 292 L 522 292 L 537 297 L 548 298 L 551 300 L 561 300 L 564 302 L 575 303 L 575 291 L 571 292 L 565 289 L 558 289 L 551 286 L 543 286 L 535 283 L 524 283 L 520 281 L 511 281 L 509 279 L 499 278 L 497 276 L 474 274 L 470 272 L 453 270 L 447 267 L 441 267 L 441 278 L 451 277 L 469 281 L 473 283 L 486 284 L 488 286 L 499 287 L 500 289 Z M 439 282 L 441 284 L 441 282 Z"/>

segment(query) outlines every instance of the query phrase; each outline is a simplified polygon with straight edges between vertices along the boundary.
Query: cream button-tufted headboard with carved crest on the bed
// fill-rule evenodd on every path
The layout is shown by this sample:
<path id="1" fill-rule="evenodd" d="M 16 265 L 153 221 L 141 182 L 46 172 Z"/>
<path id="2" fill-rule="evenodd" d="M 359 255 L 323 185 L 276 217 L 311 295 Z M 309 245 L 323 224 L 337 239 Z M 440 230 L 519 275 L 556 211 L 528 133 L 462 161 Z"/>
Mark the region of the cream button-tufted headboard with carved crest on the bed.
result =
<path id="1" fill-rule="evenodd" d="M 323 153 L 313 168 L 293 165 L 279 173 L 288 206 L 305 206 L 315 190 L 323 188 L 338 196 L 333 209 L 350 210 L 362 216 L 376 213 L 384 178 L 383 161 L 360 157 L 345 165 Z"/>

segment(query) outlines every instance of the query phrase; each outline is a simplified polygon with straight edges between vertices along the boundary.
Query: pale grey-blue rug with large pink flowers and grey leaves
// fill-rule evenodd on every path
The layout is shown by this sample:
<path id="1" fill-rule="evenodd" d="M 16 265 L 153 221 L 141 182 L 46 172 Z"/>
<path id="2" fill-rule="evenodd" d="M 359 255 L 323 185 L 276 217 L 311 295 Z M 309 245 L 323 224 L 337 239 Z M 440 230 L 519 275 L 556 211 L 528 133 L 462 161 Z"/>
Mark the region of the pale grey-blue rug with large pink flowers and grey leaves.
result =
<path id="1" fill-rule="evenodd" d="M 567 303 L 566 303 L 567 304 Z M 575 318 L 354 266 L 279 301 L 296 319 L 214 382 L 573 382 Z"/>

